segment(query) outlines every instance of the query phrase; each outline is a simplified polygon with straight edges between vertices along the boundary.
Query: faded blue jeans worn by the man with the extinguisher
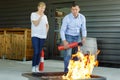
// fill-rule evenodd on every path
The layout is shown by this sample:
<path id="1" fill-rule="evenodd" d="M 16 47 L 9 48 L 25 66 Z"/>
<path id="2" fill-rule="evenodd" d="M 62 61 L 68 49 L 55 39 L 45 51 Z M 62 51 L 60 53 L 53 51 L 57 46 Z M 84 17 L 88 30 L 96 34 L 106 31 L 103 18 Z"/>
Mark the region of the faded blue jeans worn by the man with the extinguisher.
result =
<path id="1" fill-rule="evenodd" d="M 78 42 L 80 38 L 79 36 L 71 36 L 71 35 L 65 35 L 65 37 L 67 42 L 69 43 Z M 68 72 L 68 64 L 69 64 L 69 60 L 71 59 L 71 53 L 72 53 L 71 48 L 64 51 L 64 72 Z"/>

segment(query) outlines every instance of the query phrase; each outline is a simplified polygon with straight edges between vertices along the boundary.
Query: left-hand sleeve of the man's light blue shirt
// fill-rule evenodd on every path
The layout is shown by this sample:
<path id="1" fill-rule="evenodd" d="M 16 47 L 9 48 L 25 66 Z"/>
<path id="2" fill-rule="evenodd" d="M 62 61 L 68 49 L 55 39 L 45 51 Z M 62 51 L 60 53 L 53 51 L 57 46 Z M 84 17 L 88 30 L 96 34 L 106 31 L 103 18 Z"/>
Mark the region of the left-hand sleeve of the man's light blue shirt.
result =
<path id="1" fill-rule="evenodd" d="M 60 36 L 61 36 L 62 41 L 66 40 L 66 38 L 65 38 L 66 29 L 67 29 L 67 17 L 65 17 L 63 19 L 62 26 L 61 26 L 61 29 L 60 29 Z"/>

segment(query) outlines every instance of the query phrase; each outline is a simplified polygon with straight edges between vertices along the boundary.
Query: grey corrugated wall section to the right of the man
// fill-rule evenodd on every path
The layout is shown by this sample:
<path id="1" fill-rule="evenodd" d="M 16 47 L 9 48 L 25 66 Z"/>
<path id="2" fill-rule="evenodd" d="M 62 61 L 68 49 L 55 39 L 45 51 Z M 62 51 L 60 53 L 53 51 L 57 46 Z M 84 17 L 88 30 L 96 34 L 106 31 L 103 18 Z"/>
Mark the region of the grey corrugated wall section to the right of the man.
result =
<path id="1" fill-rule="evenodd" d="M 88 37 L 97 38 L 100 62 L 120 64 L 120 0 L 80 0 Z"/>

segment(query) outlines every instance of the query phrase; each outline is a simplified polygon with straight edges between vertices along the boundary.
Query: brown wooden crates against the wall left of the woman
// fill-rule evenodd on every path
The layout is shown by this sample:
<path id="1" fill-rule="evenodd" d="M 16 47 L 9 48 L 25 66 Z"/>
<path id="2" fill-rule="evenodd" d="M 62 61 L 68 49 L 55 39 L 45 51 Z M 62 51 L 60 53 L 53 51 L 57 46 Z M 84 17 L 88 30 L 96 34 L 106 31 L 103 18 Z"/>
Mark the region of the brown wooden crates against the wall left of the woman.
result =
<path id="1" fill-rule="evenodd" d="M 4 53 L 5 58 L 14 59 L 14 60 L 31 60 L 33 55 L 33 49 L 31 44 L 31 30 L 26 28 L 11 28 L 11 29 L 3 29 L 4 35 L 4 49 L 0 47 L 0 49 L 4 50 L 1 53 Z M 0 34 L 0 41 L 3 37 Z"/>

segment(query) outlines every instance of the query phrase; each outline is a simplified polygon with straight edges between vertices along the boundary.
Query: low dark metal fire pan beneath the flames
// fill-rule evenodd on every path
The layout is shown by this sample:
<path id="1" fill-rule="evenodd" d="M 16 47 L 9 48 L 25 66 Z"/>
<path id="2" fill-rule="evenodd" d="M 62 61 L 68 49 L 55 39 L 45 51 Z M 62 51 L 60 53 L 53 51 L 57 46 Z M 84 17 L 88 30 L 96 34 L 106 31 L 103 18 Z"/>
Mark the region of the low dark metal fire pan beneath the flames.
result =
<path id="1" fill-rule="evenodd" d="M 42 72 L 42 73 L 23 73 L 22 76 L 29 78 L 29 80 L 63 80 L 64 72 Z M 77 79 L 78 80 L 78 79 Z M 79 80 L 106 80 L 105 77 L 98 75 L 91 75 L 90 79 Z"/>

